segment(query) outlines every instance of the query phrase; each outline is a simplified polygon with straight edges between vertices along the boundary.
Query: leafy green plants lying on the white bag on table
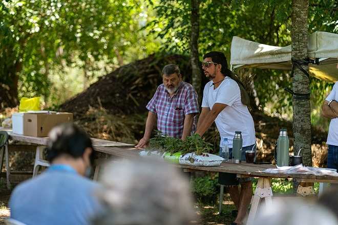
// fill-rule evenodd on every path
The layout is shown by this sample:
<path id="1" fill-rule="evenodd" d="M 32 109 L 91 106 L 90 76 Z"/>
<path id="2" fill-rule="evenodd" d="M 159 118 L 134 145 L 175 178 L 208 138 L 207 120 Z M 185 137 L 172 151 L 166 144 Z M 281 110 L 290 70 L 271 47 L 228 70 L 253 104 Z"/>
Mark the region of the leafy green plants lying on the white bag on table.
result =
<path id="1" fill-rule="evenodd" d="M 186 137 L 185 140 L 172 138 L 166 134 L 158 131 L 155 138 L 150 139 L 149 147 L 147 149 L 159 150 L 161 152 L 180 152 L 186 154 L 189 152 L 196 152 L 197 155 L 203 153 L 210 153 L 213 151 L 213 145 L 205 142 L 198 134 Z M 207 155 L 207 154 L 206 154 Z"/>

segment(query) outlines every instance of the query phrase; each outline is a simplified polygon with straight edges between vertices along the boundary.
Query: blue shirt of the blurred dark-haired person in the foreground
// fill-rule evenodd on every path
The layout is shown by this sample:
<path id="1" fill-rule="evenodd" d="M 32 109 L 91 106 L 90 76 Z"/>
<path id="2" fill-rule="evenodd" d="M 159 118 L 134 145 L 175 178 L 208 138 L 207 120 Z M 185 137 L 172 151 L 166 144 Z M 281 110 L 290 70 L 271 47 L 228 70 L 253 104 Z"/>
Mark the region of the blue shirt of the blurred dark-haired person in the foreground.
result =
<path id="1" fill-rule="evenodd" d="M 93 192 L 97 183 L 76 174 L 46 171 L 11 196 L 11 218 L 26 224 L 88 224 L 101 212 Z"/>

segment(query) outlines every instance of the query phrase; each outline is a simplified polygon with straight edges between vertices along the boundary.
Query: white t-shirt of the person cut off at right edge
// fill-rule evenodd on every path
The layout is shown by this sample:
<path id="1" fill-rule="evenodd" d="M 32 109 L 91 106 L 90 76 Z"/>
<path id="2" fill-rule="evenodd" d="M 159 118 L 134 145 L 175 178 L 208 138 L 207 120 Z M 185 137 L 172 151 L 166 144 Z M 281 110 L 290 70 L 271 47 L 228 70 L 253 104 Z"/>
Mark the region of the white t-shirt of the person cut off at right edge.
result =
<path id="1" fill-rule="evenodd" d="M 335 82 L 332 91 L 325 100 L 329 102 L 332 99 L 338 101 L 338 82 Z M 331 119 L 326 144 L 338 146 L 338 118 Z"/>

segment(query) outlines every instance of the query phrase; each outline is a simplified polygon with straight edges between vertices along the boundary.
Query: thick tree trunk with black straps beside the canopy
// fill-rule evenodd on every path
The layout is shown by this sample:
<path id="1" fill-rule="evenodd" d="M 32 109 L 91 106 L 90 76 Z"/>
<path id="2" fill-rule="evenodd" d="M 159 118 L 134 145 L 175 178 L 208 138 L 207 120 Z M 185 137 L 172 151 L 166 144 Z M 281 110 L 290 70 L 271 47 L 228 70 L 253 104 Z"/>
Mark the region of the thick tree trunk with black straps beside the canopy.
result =
<path id="1" fill-rule="evenodd" d="M 303 60 L 308 57 L 308 0 L 293 0 L 292 1 L 292 59 Z M 293 66 L 292 86 L 293 92 L 297 94 L 309 93 L 309 78 L 304 74 L 295 63 Z M 308 63 L 301 65 L 308 72 Z M 311 118 L 310 118 L 310 99 L 293 98 L 293 151 L 296 153 L 300 148 L 303 148 L 303 164 L 312 166 L 311 154 Z"/>

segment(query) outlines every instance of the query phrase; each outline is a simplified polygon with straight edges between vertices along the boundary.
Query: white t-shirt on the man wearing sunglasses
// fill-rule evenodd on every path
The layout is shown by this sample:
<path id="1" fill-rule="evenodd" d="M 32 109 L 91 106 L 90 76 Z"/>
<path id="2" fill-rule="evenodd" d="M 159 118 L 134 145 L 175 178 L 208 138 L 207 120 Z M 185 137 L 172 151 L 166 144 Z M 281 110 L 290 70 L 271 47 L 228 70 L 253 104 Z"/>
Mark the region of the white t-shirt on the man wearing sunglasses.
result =
<path id="1" fill-rule="evenodd" d="M 242 131 L 243 147 L 255 144 L 254 119 L 248 107 L 241 102 L 241 91 L 235 80 L 225 77 L 216 89 L 212 81 L 205 85 L 202 107 L 212 109 L 215 103 L 227 105 L 217 116 L 215 123 L 221 138 L 228 139 L 229 148 L 233 147 L 235 131 Z"/>

